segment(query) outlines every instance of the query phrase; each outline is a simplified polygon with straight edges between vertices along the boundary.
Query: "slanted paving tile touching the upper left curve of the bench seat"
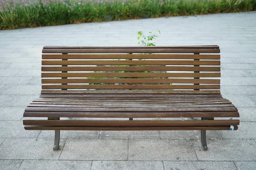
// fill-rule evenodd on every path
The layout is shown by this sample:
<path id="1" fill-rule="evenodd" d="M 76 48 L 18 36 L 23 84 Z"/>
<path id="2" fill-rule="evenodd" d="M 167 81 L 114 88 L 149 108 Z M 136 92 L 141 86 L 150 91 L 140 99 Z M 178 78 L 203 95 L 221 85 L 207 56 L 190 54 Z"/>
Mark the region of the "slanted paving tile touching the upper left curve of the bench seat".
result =
<path id="1" fill-rule="evenodd" d="M 27 106 L 34 99 L 37 99 L 39 95 L 16 95 L 7 106 Z"/>

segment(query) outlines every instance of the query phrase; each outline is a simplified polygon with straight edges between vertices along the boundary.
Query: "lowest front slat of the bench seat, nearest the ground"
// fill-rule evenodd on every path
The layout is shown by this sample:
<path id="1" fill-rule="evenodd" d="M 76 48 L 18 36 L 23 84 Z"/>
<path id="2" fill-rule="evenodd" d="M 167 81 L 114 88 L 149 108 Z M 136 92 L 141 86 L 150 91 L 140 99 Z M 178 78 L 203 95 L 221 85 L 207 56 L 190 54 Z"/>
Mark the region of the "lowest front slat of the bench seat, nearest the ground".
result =
<path id="1" fill-rule="evenodd" d="M 149 126 L 149 127 L 98 127 L 98 126 L 81 126 L 81 127 L 70 127 L 70 126 L 35 126 L 25 125 L 25 130 L 229 130 L 230 125 L 227 126 Z M 237 130 L 238 126 L 234 125 L 234 130 Z"/>

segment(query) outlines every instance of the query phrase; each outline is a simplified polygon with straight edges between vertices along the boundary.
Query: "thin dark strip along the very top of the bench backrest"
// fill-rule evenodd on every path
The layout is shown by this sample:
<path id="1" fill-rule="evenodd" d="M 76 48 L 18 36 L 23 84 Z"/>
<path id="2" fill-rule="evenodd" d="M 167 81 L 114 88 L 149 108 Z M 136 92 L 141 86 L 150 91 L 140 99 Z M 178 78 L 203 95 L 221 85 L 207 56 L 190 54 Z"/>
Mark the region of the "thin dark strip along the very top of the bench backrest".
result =
<path id="1" fill-rule="evenodd" d="M 219 48 L 218 45 L 183 45 L 183 46 L 55 46 L 45 45 L 43 48 Z"/>

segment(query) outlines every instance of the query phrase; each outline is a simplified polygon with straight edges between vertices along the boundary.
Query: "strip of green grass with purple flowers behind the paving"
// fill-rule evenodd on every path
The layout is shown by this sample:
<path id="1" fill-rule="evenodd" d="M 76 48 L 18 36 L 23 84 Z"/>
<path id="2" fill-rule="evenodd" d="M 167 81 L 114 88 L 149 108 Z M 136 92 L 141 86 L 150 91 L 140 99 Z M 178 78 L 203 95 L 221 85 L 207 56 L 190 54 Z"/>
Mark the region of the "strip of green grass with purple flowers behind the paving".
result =
<path id="1" fill-rule="evenodd" d="M 0 30 L 254 10 L 256 0 L 0 0 Z"/>

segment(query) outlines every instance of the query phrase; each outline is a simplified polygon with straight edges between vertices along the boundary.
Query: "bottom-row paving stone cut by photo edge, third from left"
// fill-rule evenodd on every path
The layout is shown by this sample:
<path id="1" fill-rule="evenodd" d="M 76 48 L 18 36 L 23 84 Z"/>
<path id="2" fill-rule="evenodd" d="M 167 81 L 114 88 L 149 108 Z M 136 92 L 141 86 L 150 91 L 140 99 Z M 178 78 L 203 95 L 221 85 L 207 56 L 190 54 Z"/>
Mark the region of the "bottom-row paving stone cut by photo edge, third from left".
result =
<path id="1" fill-rule="evenodd" d="M 163 170 L 162 161 L 93 161 L 91 170 Z"/>

